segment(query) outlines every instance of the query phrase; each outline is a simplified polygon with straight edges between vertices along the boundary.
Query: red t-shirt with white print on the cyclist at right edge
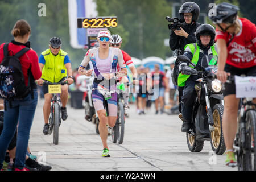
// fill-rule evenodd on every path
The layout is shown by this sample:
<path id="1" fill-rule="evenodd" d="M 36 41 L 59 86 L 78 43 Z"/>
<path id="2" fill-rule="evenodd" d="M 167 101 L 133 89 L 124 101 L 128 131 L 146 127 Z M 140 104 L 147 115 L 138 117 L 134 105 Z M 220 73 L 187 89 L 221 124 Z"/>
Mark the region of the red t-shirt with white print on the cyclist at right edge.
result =
<path id="1" fill-rule="evenodd" d="M 241 30 L 230 42 L 226 64 L 236 68 L 250 68 L 256 65 L 256 26 L 246 18 L 239 18 Z M 226 40 L 232 38 L 232 34 L 221 32 L 216 29 L 216 38 Z"/>

